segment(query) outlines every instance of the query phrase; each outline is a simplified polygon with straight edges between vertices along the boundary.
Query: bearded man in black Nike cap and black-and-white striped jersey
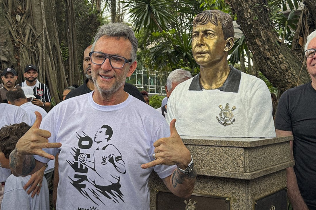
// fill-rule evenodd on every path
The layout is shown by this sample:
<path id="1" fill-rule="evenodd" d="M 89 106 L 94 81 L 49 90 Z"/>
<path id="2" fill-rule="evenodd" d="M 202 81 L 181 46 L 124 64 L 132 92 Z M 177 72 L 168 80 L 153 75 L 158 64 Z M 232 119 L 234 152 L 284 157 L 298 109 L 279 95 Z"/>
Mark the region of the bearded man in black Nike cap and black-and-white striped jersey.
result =
<path id="1" fill-rule="evenodd" d="M 51 94 L 46 84 L 38 81 L 38 68 L 36 65 L 27 65 L 24 70 L 25 81 L 19 84 L 21 87 L 29 86 L 33 88 L 33 95 L 36 97 L 33 99 L 32 103 L 34 105 L 48 108 L 51 106 Z"/>

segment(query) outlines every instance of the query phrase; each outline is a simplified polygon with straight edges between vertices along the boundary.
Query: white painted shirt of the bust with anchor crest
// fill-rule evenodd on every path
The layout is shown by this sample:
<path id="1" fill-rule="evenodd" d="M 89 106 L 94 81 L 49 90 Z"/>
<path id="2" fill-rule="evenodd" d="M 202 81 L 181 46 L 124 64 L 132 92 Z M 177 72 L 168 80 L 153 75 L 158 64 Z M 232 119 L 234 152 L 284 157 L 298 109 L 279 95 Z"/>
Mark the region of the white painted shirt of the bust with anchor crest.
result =
<path id="1" fill-rule="evenodd" d="M 243 72 L 240 75 L 236 69 L 231 72 L 234 76 L 223 85 L 226 91 L 192 88 L 192 80 L 199 86 L 198 75 L 180 83 L 168 99 L 167 122 L 177 119 L 178 133 L 186 136 L 276 137 L 271 96 L 264 81 Z"/>

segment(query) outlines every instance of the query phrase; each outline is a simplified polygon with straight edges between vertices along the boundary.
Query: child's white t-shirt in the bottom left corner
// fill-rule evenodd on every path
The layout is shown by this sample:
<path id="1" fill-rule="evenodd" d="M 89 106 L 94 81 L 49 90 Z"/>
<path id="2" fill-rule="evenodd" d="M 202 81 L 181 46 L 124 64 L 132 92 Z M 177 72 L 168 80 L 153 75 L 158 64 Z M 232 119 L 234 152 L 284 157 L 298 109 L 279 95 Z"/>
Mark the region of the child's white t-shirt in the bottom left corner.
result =
<path id="1" fill-rule="evenodd" d="M 23 189 L 30 178 L 31 175 L 16 177 L 13 174 L 8 177 L 4 186 L 1 209 L 49 210 L 49 192 L 46 179 L 42 181 L 40 195 L 35 195 L 32 198 L 32 193 L 28 195 L 27 191 Z"/>

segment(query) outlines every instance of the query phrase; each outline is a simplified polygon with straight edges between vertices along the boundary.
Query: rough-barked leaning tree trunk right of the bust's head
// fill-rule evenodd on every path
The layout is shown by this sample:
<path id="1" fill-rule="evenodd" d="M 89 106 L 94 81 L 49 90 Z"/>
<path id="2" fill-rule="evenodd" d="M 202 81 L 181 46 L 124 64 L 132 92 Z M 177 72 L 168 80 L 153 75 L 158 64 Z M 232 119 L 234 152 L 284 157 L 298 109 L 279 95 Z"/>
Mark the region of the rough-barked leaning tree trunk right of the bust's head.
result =
<path id="1" fill-rule="evenodd" d="M 310 81 L 305 66 L 280 40 L 270 20 L 267 1 L 228 0 L 246 37 L 258 70 L 282 92 Z"/>

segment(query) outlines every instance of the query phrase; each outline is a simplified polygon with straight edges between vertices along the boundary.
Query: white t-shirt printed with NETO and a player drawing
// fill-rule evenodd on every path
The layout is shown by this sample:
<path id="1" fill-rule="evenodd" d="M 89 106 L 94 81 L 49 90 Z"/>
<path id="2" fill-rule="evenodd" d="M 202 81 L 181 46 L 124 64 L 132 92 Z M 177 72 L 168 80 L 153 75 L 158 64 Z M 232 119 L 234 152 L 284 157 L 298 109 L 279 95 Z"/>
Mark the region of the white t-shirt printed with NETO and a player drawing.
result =
<path id="1" fill-rule="evenodd" d="M 153 161 L 153 143 L 170 136 L 163 116 L 142 101 L 129 97 L 121 104 L 96 104 L 94 92 L 67 99 L 43 119 L 50 142 L 61 142 L 57 209 L 149 209 L 148 178 L 160 178 L 176 166 L 142 169 Z M 35 156 L 41 162 L 48 160 Z"/>

